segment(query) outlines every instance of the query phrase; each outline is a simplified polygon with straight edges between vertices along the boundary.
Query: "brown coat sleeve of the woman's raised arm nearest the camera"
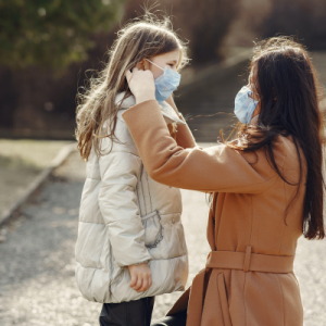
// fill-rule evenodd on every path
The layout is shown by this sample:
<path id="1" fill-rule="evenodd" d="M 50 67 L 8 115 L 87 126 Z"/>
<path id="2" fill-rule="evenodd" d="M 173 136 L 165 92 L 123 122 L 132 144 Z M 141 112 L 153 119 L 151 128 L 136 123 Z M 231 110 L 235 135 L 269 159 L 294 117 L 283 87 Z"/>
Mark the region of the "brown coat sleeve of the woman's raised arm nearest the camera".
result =
<path id="1" fill-rule="evenodd" d="M 206 149 L 178 146 L 155 100 L 128 109 L 123 118 L 147 172 L 161 184 L 200 191 L 260 193 L 276 180 L 263 150 L 252 159 L 225 145 Z M 277 162 L 284 161 L 283 154 L 276 156 Z"/>

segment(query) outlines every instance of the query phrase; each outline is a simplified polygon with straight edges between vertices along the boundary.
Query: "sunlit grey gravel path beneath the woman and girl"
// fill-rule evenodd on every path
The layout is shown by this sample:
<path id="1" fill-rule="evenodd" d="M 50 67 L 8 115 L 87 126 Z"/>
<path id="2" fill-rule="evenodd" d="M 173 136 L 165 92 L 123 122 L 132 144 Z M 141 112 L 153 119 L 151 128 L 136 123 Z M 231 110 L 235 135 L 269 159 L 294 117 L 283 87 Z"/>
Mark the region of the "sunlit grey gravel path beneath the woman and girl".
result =
<path id="1" fill-rule="evenodd" d="M 84 183 L 77 154 L 22 209 L 0 243 L 1 326 L 95 326 L 100 304 L 79 294 L 74 278 L 74 246 Z M 204 265 L 209 206 L 205 196 L 183 191 L 184 225 L 190 254 L 190 277 Z M 296 272 L 305 308 L 304 326 L 326 324 L 326 241 L 300 239 Z M 161 317 L 180 293 L 156 298 Z"/>

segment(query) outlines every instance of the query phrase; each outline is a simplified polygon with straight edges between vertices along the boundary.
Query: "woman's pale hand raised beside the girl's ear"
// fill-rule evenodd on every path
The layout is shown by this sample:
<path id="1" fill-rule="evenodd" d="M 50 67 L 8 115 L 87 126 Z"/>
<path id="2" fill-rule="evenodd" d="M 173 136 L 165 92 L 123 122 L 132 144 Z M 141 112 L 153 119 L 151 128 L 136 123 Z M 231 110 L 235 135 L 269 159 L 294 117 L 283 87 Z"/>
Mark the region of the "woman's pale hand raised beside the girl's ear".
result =
<path id="1" fill-rule="evenodd" d="M 137 104 L 155 100 L 155 84 L 151 71 L 142 71 L 134 67 L 133 73 L 129 71 L 126 72 L 126 78 Z"/>

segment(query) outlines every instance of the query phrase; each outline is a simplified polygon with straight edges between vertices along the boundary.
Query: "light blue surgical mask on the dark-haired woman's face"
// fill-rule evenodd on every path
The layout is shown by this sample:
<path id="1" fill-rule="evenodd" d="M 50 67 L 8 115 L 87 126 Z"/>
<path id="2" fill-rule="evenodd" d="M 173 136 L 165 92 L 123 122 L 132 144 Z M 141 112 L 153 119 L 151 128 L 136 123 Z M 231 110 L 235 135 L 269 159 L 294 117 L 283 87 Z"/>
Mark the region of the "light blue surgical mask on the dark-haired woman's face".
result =
<path id="1" fill-rule="evenodd" d="M 235 114 L 242 124 L 250 124 L 259 101 L 251 98 L 251 89 L 243 86 L 236 96 Z"/>

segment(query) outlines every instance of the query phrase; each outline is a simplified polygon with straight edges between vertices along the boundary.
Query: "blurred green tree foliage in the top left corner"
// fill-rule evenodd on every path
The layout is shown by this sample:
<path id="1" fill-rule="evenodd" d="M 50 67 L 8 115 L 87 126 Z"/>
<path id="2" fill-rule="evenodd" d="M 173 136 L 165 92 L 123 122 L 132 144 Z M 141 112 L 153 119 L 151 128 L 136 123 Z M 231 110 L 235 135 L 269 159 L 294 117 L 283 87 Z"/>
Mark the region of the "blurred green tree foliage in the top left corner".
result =
<path id="1" fill-rule="evenodd" d="M 62 68 L 87 58 L 91 33 L 109 30 L 125 0 L 0 0 L 0 62 Z"/>

